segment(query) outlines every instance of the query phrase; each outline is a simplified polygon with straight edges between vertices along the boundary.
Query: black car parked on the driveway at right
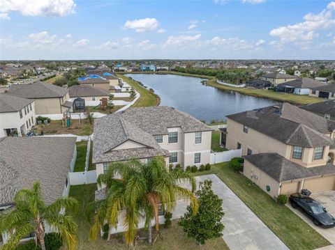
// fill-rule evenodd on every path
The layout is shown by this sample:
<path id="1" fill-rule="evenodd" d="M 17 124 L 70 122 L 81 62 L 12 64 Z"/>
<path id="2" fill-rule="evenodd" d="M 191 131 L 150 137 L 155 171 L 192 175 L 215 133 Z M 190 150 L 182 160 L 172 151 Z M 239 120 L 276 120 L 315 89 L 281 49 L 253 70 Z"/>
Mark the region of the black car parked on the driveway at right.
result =
<path id="1" fill-rule="evenodd" d="M 302 194 L 291 194 L 290 203 L 292 208 L 300 208 L 302 212 L 313 219 L 316 226 L 332 228 L 335 226 L 335 218 L 318 201 Z"/>

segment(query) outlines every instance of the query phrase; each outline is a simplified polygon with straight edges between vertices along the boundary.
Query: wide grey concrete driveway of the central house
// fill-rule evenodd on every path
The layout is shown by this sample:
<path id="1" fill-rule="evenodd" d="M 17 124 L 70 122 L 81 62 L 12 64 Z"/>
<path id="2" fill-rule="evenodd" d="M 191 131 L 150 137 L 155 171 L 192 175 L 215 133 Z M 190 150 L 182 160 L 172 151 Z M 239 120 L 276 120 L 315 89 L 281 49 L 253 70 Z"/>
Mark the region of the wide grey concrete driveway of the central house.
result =
<path id="1" fill-rule="evenodd" d="M 223 240 L 231 250 L 288 249 L 285 244 L 216 175 L 196 177 L 211 180 L 215 194 L 223 199 Z"/>

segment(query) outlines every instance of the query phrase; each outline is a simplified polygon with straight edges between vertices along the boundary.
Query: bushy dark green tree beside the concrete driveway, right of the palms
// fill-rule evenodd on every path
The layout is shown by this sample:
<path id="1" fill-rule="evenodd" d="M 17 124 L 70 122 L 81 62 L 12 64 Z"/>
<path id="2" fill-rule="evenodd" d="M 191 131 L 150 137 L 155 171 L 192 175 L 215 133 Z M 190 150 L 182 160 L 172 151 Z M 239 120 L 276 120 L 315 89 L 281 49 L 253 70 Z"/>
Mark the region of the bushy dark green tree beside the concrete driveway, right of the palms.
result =
<path id="1" fill-rule="evenodd" d="M 199 190 L 195 194 L 199 200 L 198 213 L 193 216 L 193 208 L 188 206 L 179 225 L 184 228 L 188 237 L 194 237 L 198 244 L 205 244 L 206 240 L 222 236 L 222 199 L 211 190 L 210 180 L 200 182 Z"/>

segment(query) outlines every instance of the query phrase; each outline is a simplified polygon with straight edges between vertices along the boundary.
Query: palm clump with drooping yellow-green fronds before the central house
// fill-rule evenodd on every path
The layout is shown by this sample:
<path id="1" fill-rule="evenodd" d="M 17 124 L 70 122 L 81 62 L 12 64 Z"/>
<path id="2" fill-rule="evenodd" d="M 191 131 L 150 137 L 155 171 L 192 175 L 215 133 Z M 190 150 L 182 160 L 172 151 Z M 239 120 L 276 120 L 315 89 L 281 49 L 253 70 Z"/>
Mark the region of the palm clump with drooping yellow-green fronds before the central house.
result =
<path id="1" fill-rule="evenodd" d="M 179 186 L 183 180 L 191 184 L 192 191 Z M 159 232 L 160 203 L 170 212 L 177 198 L 182 197 L 191 201 L 194 214 L 198 212 L 198 199 L 193 194 L 196 188 L 193 175 L 181 169 L 169 171 L 163 157 L 151 159 L 148 164 L 136 159 L 110 164 L 107 173 L 98 176 L 98 185 L 103 184 L 106 185 L 106 198 L 91 206 L 91 212 L 96 211 L 90 230 L 91 240 L 96 240 L 104 224 L 117 227 L 121 210 L 125 212 L 123 222 L 128 246 L 133 245 L 140 217 L 145 217 L 151 244 L 151 219 L 155 218 L 155 229 Z"/>

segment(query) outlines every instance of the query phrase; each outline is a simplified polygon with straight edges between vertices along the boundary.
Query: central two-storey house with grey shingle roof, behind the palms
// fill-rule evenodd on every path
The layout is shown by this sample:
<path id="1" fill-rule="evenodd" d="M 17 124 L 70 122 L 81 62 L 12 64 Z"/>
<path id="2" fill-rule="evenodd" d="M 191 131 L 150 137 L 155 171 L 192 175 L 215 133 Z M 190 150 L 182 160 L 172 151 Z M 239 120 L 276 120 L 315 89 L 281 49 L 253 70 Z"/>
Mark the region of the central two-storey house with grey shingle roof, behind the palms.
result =
<path id="1" fill-rule="evenodd" d="M 211 128 L 172 107 L 131 108 L 94 120 L 93 163 L 97 175 L 110 162 L 161 155 L 167 164 L 209 163 Z"/>

